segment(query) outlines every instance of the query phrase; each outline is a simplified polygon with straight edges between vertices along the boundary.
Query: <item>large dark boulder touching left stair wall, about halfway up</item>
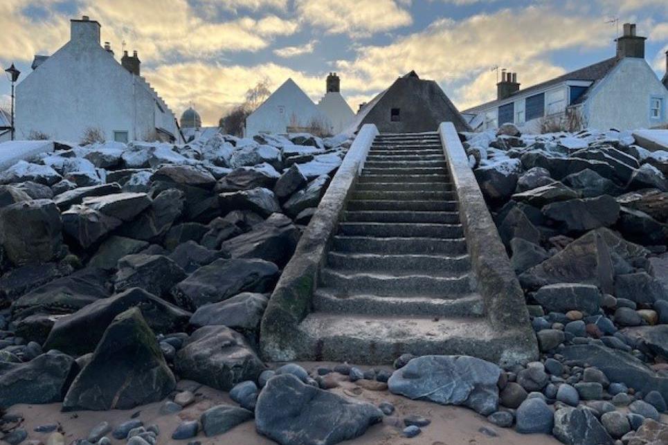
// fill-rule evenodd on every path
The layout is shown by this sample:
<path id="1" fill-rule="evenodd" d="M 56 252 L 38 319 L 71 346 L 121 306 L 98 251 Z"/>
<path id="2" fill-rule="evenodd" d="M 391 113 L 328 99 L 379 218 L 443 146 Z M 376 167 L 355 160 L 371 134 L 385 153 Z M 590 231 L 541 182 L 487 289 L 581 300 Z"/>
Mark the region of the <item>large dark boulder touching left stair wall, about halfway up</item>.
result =
<path id="1" fill-rule="evenodd" d="M 282 267 L 292 257 L 300 232 L 292 221 L 274 213 L 250 232 L 224 241 L 221 247 L 233 258 L 261 258 Z"/>

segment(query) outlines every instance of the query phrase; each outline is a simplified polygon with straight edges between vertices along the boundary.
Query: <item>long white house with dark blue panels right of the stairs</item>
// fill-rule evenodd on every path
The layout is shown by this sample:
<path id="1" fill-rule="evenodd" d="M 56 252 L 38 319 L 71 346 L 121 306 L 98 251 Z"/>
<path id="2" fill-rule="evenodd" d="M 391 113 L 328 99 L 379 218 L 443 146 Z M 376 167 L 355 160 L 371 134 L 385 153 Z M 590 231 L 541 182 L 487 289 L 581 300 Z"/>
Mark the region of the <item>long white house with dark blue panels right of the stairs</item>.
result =
<path id="1" fill-rule="evenodd" d="M 635 24 L 624 24 L 615 57 L 526 89 L 516 73 L 504 71 L 497 99 L 462 114 L 476 130 L 506 122 L 529 132 L 550 122 L 600 129 L 665 125 L 668 91 L 644 59 L 644 40 L 635 35 Z"/>

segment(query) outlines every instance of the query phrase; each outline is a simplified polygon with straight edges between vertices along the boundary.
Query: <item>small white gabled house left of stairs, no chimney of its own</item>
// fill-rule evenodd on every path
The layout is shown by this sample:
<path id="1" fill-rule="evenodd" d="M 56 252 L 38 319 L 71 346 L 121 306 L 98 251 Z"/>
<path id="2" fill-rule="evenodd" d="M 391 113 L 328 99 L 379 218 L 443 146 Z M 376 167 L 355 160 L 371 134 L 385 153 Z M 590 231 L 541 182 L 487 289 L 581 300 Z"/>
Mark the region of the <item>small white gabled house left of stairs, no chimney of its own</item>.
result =
<path id="1" fill-rule="evenodd" d="M 244 136 L 332 132 L 332 124 L 292 79 L 288 79 L 246 118 Z"/>

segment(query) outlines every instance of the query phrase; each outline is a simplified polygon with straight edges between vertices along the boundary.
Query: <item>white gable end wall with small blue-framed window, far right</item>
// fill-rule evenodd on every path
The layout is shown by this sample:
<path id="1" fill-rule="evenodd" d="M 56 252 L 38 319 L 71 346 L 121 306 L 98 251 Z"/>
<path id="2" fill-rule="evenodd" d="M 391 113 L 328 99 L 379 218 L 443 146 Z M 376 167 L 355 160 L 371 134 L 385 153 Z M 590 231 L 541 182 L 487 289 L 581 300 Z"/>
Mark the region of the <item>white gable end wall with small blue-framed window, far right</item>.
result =
<path id="1" fill-rule="evenodd" d="M 652 96 L 663 98 L 662 120 L 650 120 Z M 584 113 L 591 128 L 638 129 L 666 123 L 668 91 L 644 59 L 626 57 L 590 93 Z"/>

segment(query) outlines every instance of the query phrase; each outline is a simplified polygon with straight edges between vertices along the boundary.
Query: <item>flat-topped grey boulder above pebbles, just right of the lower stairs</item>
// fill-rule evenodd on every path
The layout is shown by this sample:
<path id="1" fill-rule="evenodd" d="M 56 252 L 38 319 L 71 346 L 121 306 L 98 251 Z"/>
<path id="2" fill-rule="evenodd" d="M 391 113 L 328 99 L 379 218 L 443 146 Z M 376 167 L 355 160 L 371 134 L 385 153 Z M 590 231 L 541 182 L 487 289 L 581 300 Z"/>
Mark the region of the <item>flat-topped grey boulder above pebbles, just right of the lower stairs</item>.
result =
<path id="1" fill-rule="evenodd" d="M 541 287 L 534 300 L 545 312 L 581 311 L 584 314 L 597 314 L 601 306 L 602 295 L 591 284 L 559 283 Z"/>

